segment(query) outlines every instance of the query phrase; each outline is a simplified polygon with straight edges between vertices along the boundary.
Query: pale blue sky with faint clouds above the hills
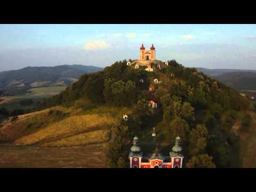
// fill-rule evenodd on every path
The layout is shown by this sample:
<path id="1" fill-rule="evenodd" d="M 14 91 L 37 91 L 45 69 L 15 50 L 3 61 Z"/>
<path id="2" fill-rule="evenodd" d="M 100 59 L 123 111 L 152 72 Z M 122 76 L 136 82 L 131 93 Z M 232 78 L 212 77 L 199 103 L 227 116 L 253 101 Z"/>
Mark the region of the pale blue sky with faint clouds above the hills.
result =
<path id="1" fill-rule="evenodd" d="M 0 71 L 28 66 L 92 65 L 156 59 L 185 67 L 256 69 L 256 25 L 0 25 Z"/>

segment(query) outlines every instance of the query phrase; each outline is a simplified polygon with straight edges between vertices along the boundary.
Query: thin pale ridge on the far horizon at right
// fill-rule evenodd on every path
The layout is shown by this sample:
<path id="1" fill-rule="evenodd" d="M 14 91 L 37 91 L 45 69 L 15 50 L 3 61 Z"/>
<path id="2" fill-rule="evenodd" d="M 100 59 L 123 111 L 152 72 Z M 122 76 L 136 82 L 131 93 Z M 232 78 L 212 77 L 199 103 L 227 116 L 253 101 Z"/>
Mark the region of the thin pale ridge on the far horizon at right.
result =
<path id="1" fill-rule="evenodd" d="M 230 72 L 251 72 L 256 73 L 256 70 L 244 70 L 244 69 L 206 69 L 197 67 L 197 71 L 204 73 L 205 75 L 209 76 L 219 76 L 224 73 L 230 73 Z"/>

